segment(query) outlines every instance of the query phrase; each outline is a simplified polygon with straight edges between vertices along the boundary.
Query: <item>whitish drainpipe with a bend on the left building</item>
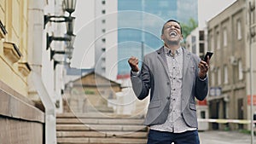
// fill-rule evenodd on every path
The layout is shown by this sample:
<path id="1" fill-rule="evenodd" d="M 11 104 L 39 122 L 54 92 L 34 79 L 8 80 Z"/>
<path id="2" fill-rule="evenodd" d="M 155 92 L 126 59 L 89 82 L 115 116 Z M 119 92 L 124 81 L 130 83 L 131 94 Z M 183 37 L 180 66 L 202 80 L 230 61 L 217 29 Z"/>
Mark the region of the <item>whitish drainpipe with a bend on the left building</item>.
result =
<path id="1" fill-rule="evenodd" d="M 45 109 L 44 140 L 46 144 L 56 144 L 55 104 L 45 88 L 42 77 L 43 56 L 45 56 L 44 0 L 28 2 L 28 56 L 32 73 L 28 78 L 29 94 L 39 96 Z M 42 34 L 43 33 L 43 34 Z"/>

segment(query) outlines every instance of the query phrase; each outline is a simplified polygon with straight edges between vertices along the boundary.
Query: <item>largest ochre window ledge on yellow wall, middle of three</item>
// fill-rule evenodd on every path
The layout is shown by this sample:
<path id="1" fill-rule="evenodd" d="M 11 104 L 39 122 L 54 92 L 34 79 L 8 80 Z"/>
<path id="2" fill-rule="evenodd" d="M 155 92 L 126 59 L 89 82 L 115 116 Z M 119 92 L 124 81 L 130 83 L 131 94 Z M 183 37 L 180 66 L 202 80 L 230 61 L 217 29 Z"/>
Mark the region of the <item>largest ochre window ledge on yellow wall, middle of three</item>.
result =
<path id="1" fill-rule="evenodd" d="M 21 53 L 15 43 L 3 42 L 3 54 L 12 63 L 17 62 L 21 58 Z"/>

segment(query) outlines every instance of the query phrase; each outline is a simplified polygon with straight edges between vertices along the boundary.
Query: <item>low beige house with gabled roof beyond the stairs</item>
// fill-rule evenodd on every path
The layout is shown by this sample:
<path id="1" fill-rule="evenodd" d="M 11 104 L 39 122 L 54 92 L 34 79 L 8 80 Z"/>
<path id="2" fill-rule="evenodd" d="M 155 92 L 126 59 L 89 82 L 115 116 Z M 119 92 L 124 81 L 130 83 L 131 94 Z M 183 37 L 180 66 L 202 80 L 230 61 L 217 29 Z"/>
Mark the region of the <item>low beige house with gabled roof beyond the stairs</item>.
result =
<path id="1" fill-rule="evenodd" d="M 67 83 L 64 112 L 113 112 L 109 101 L 116 99 L 121 85 L 96 72 Z"/>

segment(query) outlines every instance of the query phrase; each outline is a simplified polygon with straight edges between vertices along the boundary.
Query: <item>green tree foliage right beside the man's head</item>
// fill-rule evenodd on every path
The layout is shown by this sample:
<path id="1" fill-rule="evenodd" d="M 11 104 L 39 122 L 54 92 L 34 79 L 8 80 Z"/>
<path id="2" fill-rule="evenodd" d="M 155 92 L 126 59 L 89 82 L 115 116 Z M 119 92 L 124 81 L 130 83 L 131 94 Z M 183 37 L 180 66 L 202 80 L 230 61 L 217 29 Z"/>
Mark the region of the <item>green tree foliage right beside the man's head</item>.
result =
<path id="1" fill-rule="evenodd" d="M 183 28 L 183 39 L 185 41 L 186 37 L 198 26 L 198 24 L 193 18 L 190 18 L 189 23 L 181 23 L 181 26 Z"/>

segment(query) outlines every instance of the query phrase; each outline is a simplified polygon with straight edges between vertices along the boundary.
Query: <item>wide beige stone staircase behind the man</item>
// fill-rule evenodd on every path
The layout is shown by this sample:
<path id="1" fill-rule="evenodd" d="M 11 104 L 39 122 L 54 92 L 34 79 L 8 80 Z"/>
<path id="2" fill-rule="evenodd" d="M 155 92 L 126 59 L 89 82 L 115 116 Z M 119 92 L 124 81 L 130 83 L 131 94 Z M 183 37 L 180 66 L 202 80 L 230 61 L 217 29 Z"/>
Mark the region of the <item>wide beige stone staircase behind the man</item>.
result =
<path id="1" fill-rule="evenodd" d="M 145 144 L 143 117 L 111 113 L 61 113 L 56 121 L 58 144 Z"/>

